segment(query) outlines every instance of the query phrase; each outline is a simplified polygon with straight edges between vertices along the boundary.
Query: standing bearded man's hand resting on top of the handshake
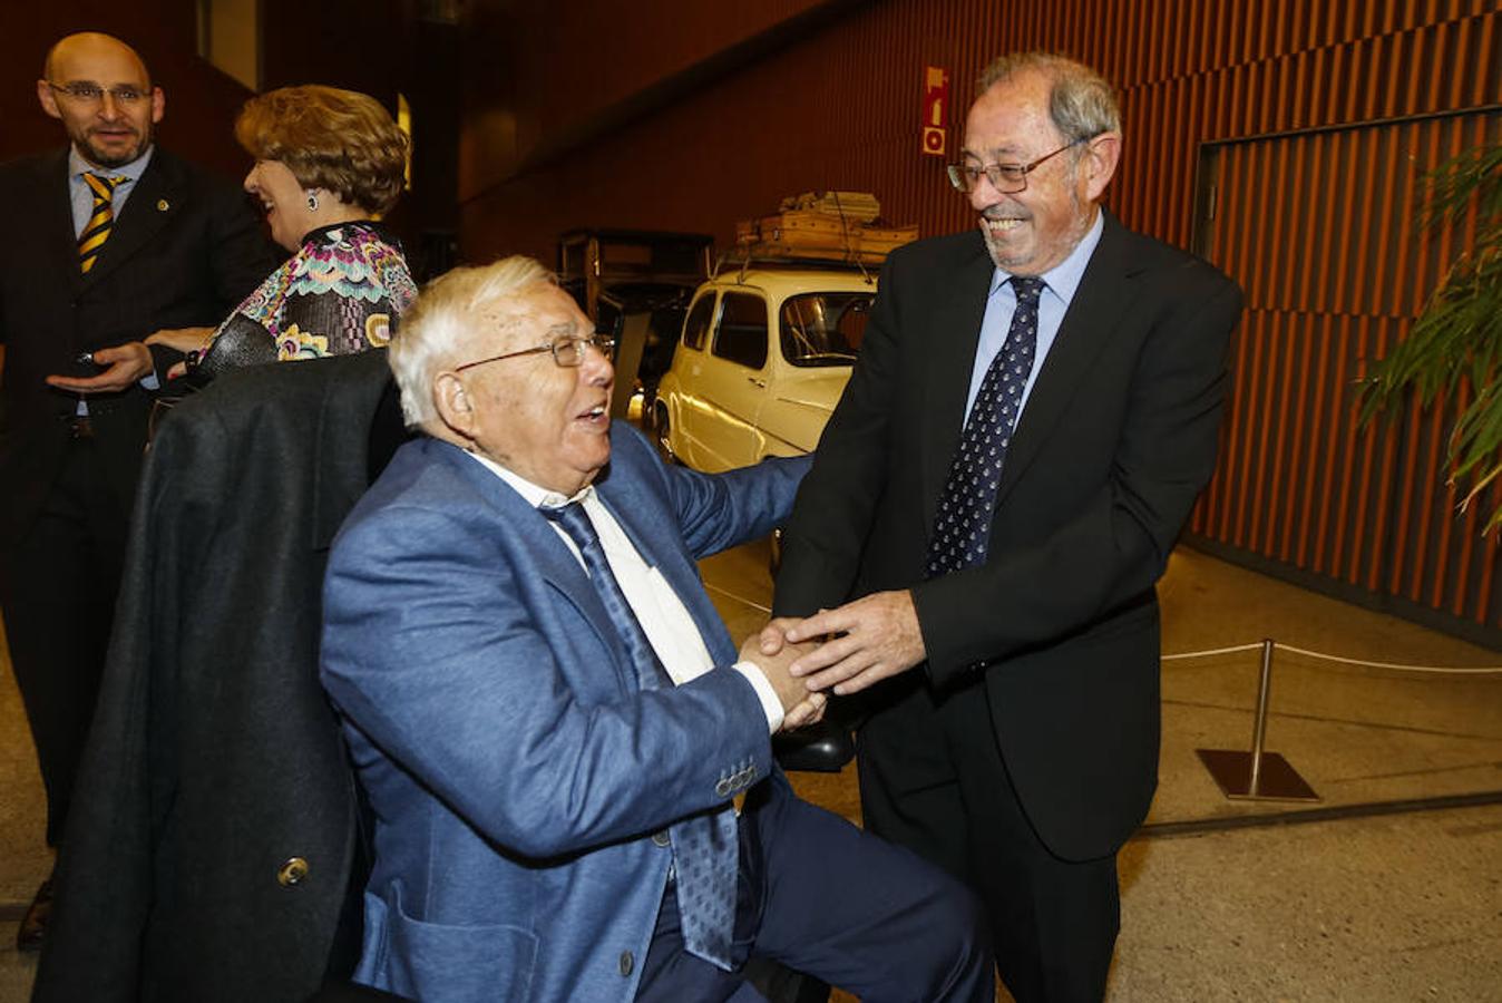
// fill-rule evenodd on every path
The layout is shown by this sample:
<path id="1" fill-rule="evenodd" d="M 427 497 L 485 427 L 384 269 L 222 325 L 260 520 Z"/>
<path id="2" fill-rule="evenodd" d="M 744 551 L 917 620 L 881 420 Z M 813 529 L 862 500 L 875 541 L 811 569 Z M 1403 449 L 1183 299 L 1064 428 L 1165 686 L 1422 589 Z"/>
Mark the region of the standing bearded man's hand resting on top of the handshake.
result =
<path id="1" fill-rule="evenodd" d="M 876 592 L 787 628 L 789 641 L 832 635 L 789 671 L 810 689 L 859 692 L 924 661 L 924 634 L 910 592 Z"/>

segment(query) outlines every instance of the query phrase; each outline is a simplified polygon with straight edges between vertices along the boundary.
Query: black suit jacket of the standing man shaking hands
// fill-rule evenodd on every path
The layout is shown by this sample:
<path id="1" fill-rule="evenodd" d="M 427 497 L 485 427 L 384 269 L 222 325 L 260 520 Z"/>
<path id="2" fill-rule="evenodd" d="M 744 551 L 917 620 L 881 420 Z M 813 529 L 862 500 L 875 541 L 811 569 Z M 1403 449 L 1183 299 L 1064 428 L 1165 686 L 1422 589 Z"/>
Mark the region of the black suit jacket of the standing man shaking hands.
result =
<path id="1" fill-rule="evenodd" d="M 939 688 L 976 677 L 1029 818 L 1113 851 L 1158 763 L 1163 574 L 1215 465 L 1236 285 L 1105 216 L 1023 410 L 984 566 L 924 581 L 993 264 L 976 231 L 895 251 L 787 527 L 778 614 L 912 589 Z"/>

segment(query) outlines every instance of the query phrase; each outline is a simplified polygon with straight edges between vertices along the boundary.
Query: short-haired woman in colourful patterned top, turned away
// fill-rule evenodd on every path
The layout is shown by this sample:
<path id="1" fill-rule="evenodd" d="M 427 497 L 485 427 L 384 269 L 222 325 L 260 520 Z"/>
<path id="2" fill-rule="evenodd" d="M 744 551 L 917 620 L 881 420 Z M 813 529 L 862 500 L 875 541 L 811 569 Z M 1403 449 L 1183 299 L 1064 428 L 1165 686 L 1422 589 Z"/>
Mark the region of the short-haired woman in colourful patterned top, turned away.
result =
<path id="1" fill-rule="evenodd" d="M 254 342 L 248 357 L 269 359 L 269 338 L 279 360 L 385 347 L 418 294 L 400 243 L 379 222 L 403 189 L 406 135 L 374 98 L 317 84 L 251 98 L 234 135 L 255 158 L 245 191 L 293 257 L 207 339 L 182 330 L 149 341 L 197 353 L 191 359 L 212 359 L 219 339 Z"/>

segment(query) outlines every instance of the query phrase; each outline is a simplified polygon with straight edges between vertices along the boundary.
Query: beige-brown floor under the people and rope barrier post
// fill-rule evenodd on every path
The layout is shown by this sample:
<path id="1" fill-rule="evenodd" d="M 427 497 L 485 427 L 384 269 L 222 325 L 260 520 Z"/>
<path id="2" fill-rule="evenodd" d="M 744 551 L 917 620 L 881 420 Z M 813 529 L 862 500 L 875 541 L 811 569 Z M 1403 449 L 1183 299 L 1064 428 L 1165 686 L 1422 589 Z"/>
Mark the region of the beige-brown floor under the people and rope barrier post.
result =
<path id="1" fill-rule="evenodd" d="M 765 545 L 715 557 L 704 575 L 734 637 L 760 626 Z M 1170 655 L 1271 637 L 1377 662 L 1502 665 L 1494 652 L 1190 550 L 1173 556 L 1161 595 Z M 1317 805 L 1229 800 L 1196 757 L 1250 746 L 1257 674 L 1257 652 L 1164 664 L 1161 782 L 1120 859 L 1108 1000 L 1502 1003 L 1502 674 L 1277 652 L 1266 748 Z M 35 958 L 15 953 L 15 920 L 50 865 L 32 757 L 3 671 L 0 1003 L 27 998 Z M 859 814 L 850 770 L 795 784 Z"/>

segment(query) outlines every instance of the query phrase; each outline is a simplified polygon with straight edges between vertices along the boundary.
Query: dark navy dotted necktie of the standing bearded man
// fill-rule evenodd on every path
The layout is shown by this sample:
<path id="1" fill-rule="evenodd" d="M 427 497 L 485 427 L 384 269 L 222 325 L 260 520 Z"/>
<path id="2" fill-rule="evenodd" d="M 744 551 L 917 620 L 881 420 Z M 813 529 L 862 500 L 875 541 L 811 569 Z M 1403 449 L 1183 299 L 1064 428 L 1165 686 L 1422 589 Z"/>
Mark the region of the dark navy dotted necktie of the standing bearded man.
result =
<path id="1" fill-rule="evenodd" d="M 1011 282 L 1017 290 L 1017 312 L 1002 350 L 985 369 L 960 435 L 960 450 L 939 495 L 939 512 L 928 538 L 928 578 L 985 563 L 985 550 L 991 542 L 996 486 L 1002 480 L 1002 464 L 1038 348 L 1038 296 L 1044 287 L 1042 279 L 1020 275 L 1014 275 Z"/>

